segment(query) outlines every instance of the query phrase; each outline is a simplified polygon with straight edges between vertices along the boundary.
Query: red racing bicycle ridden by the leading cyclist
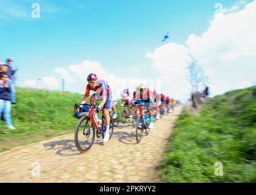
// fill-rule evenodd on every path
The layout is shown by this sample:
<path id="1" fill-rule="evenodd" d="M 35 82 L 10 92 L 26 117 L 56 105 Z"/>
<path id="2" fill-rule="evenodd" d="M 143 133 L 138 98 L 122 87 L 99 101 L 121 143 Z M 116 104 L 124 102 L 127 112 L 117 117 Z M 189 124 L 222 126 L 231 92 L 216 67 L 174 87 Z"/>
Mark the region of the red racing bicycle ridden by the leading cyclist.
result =
<path id="1" fill-rule="evenodd" d="M 84 152 L 87 152 L 93 145 L 95 133 L 98 138 L 102 137 L 102 140 L 104 139 L 105 116 L 102 113 L 102 116 L 101 116 L 102 124 L 100 125 L 100 123 L 96 120 L 96 118 L 94 118 L 94 113 L 96 113 L 96 105 L 95 104 L 87 104 L 87 103 L 86 104 L 78 104 L 78 105 L 75 104 L 75 108 L 76 108 L 75 110 L 79 109 L 80 105 L 89 107 L 89 112 L 88 112 L 87 116 L 82 116 L 82 118 L 79 119 L 79 122 L 77 122 L 75 135 L 74 135 L 74 141 L 76 143 L 76 147 L 77 147 L 78 151 L 80 151 L 81 153 L 84 153 Z M 110 127 L 109 127 L 110 138 L 113 135 L 113 129 L 114 129 L 113 118 L 110 115 Z M 81 136 L 81 138 L 80 138 L 80 136 Z M 91 138 L 90 138 L 90 136 L 91 136 Z"/>

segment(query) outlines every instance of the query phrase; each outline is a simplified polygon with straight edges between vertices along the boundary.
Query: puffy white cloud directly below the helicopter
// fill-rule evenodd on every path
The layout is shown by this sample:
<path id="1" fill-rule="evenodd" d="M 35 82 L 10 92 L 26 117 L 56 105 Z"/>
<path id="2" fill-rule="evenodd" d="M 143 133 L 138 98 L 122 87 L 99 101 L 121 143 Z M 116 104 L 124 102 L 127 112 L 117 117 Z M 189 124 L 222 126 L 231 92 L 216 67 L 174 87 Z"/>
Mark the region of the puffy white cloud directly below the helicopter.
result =
<path id="1" fill-rule="evenodd" d="M 187 100 L 190 86 L 187 79 L 188 49 L 182 44 L 168 43 L 148 52 L 146 57 L 153 60 L 153 68 L 161 75 L 162 89 L 173 98 Z"/>

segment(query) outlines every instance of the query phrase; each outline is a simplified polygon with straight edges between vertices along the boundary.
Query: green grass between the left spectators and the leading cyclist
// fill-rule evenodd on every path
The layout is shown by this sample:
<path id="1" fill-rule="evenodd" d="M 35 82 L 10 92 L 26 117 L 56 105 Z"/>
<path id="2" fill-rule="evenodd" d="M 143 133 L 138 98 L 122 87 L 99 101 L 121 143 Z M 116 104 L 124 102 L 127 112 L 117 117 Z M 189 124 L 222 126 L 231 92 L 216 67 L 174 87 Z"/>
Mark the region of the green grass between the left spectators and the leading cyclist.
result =
<path id="1" fill-rule="evenodd" d="M 73 133 L 78 122 L 73 117 L 74 103 L 82 98 L 77 93 L 16 88 L 17 104 L 12 106 L 16 130 L 8 130 L 0 121 L 0 152 Z"/>

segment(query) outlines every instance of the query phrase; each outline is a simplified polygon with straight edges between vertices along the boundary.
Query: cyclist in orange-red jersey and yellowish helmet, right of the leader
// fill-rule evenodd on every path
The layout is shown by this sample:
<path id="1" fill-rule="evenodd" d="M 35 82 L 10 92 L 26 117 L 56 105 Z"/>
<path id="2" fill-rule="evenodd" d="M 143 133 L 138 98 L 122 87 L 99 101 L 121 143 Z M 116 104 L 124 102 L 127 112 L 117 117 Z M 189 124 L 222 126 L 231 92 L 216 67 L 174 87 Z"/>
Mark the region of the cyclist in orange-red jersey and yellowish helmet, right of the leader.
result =
<path id="1" fill-rule="evenodd" d="M 154 119 L 153 119 L 152 108 L 153 108 L 154 102 L 153 102 L 151 90 L 149 90 L 149 88 L 141 84 L 140 87 L 137 87 L 137 90 L 133 92 L 133 99 L 135 100 L 135 102 L 139 104 L 145 104 L 145 103 L 151 104 L 150 107 L 148 107 L 149 118 L 150 118 L 149 129 L 153 129 Z M 143 114 L 143 107 L 140 108 L 140 115 L 142 114 Z M 138 124 L 138 127 L 141 127 L 140 124 Z"/>

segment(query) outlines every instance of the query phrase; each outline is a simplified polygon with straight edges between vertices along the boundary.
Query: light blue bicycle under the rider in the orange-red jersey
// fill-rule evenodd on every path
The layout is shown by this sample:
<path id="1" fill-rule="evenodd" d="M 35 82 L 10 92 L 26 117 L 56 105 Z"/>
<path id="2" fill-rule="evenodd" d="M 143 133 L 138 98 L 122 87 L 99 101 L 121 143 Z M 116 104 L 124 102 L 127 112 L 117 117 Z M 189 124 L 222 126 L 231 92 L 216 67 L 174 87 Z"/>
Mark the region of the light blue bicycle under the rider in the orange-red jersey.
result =
<path id="1" fill-rule="evenodd" d="M 149 120 L 148 120 L 148 106 L 149 104 L 134 104 L 137 106 L 137 109 L 140 110 L 141 107 L 143 107 L 143 113 L 142 115 L 140 112 L 135 111 L 137 114 L 137 127 L 136 127 L 136 140 L 137 143 L 140 143 L 143 131 L 145 130 L 146 135 L 149 135 L 150 129 L 149 127 Z M 146 108 L 145 108 L 146 107 Z M 146 122 L 147 119 L 147 122 Z M 139 127 L 139 124 L 141 124 L 141 127 Z"/>

